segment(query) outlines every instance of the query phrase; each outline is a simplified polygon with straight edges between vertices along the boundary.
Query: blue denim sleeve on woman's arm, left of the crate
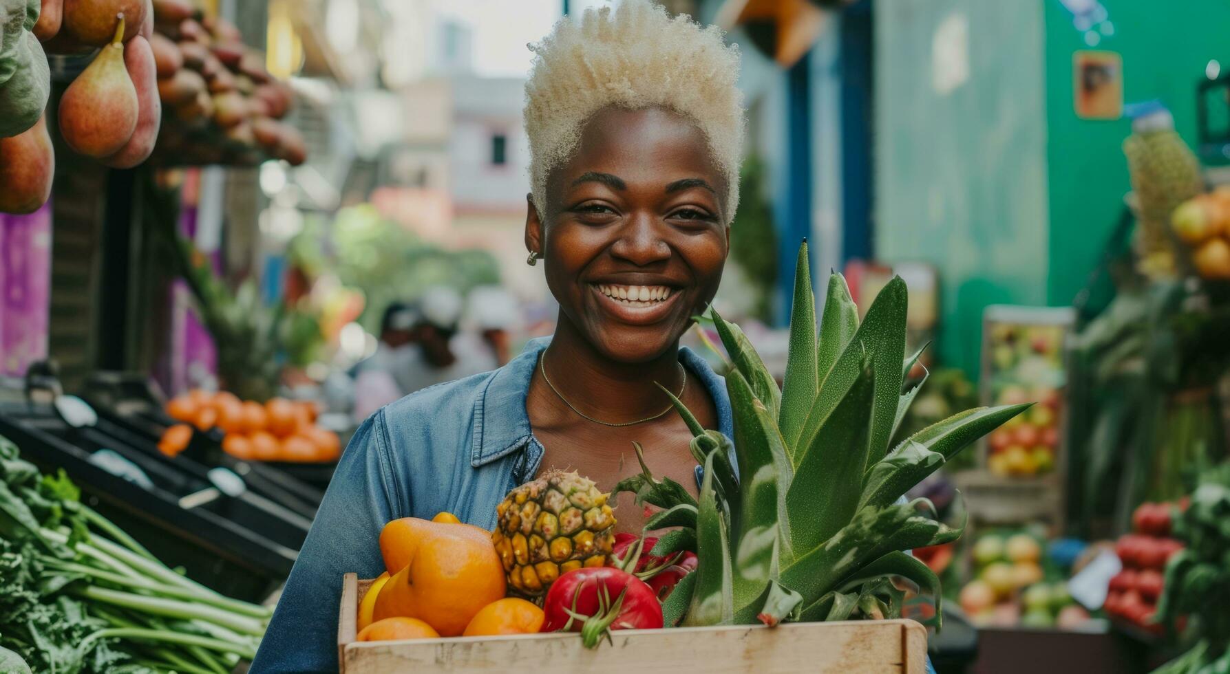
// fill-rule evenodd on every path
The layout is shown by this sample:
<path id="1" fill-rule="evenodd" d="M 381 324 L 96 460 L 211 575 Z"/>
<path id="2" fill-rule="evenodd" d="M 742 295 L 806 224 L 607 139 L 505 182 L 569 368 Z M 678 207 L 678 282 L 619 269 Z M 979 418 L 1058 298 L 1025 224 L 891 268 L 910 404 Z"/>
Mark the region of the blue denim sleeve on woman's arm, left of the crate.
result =
<path id="1" fill-rule="evenodd" d="M 252 663 L 253 674 L 337 672 L 342 574 L 384 571 L 380 530 L 400 510 L 389 480 L 384 412 L 351 438 Z"/>

